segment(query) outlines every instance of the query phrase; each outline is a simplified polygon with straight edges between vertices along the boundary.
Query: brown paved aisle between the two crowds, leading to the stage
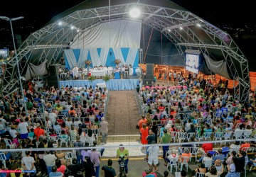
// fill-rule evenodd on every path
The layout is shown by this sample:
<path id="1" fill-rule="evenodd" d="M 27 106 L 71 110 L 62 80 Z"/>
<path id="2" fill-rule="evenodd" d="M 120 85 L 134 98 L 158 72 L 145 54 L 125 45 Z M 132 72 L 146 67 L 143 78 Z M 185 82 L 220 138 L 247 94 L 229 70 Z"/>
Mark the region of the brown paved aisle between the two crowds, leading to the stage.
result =
<path id="1" fill-rule="evenodd" d="M 138 135 L 136 125 L 140 116 L 134 91 L 110 91 L 107 110 L 109 135 Z"/>

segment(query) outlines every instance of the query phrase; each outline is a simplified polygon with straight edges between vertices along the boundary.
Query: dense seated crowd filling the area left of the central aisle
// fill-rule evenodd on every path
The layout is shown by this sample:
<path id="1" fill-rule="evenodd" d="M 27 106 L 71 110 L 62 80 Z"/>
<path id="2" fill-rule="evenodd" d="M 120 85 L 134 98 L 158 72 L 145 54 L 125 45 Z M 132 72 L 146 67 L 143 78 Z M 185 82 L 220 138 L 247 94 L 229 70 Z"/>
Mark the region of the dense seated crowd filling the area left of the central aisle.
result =
<path id="1" fill-rule="evenodd" d="M 107 89 L 92 86 L 46 88 L 14 93 L 0 101 L 1 147 L 17 149 L 1 152 L 1 159 L 14 160 L 11 169 L 35 170 L 29 176 L 99 176 L 100 158 L 105 149 L 96 149 L 97 138 L 107 142 L 105 121 Z M 25 108 L 26 105 L 26 108 Z M 27 110 L 27 114 L 26 111 Z M 30 151 L 33 148 L 87 147 L 75 153 Z M 19 152 L 18 149 L 28 149 Z M 7 169 L 0 161 L 0 169 Z M 21 164 L 18 164 L 21 162 Z M 85 171 L 85 173 L 84 173 Z M 107 170 L 105 170 L 107 171 Z M 1 173 L 1 176 L 8 176 Z M 11 173 L 11 176 L 21 173 Z"/>

